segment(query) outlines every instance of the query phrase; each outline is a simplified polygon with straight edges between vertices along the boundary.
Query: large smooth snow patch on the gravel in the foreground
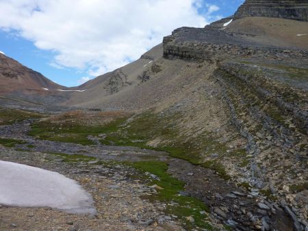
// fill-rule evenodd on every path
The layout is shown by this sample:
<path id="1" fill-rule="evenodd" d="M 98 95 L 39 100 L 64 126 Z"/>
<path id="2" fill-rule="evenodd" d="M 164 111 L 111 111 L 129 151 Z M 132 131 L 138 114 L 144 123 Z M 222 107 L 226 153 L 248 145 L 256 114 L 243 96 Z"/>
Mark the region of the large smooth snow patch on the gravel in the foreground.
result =
<path id="1" fill-rule="evenodd" d="M 57 172 L 0 161 L 0 204 L 95 213 L 90 194 Z"/>

